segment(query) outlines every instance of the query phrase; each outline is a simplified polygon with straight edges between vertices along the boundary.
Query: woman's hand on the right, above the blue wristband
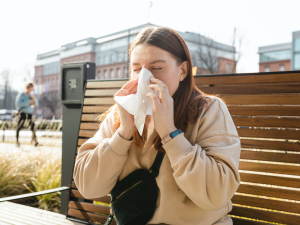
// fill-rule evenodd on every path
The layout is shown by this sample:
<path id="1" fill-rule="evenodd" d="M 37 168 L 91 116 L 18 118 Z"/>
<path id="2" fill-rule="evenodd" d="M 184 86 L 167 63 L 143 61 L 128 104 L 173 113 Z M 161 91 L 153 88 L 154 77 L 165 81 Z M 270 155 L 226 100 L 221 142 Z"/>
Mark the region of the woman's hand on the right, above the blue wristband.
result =
<path id="1" fill-rule="evenodd" d="M 146 96 L 151 98 L 153 102 L 155 130 L 161 138 L 164 138 L 171 132 L 177 130 L 174 124 L 173 98 L 169 94 L 167 85 L 161 80 L 152 77 L 151 81 L 154 84 L 150 84 L 149 88 L 155 89 L 158 92 L 158 95 L 149 92 Z"/>

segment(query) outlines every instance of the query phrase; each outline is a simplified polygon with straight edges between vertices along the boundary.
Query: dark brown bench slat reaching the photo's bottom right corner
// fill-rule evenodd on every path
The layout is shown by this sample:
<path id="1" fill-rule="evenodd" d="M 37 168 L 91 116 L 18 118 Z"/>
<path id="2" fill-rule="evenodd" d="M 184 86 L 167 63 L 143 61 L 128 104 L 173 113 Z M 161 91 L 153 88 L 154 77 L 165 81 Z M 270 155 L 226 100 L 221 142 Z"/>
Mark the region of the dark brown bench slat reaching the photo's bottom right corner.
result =
<path id="1" fill-rule="evenodd" d="M 247 218 L 252 218 L 252 219 L 263 220 L 263 221 L 289 224 L 289 225 L 299 225 L 300 224 L 300 216 L 283 214 L 283 213 L 278 213 L 278 212 L 270 212 L 270 211 L 266 211 L 266 210 L 251 209 L 251 208 L 245 208 L 245 207 L 239 207 L 239 206 L 234 206 L 232 211 L 229 214 L 240 216 L 240 217 L 247 217 Z M 234 225 L 236 225 L 236 224 L 234 224 Z M 244 224 L 241 224 L 241 225 L 244 225 Z"/>

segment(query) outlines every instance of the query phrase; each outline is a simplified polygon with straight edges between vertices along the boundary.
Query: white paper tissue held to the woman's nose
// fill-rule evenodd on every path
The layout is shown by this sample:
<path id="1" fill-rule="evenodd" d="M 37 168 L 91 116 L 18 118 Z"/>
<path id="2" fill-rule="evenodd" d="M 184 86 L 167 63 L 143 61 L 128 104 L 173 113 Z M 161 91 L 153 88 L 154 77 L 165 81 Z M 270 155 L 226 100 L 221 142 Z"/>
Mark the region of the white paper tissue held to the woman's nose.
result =
<path id="1" fill-rule="evenodd" d="M 127 112 L 134 115 L 134 124 L 140 135 L 143 134 L 145 119 L 147 115 L 153 115 L 153 103 L 146 94 L 149 92 L 157 93 L 156 90 L 149 88 L 152 73 L 143 68 L 139 74 L 139 82 L 136 94 L 127 96 L 115 96 L 115 101 Z"/>

